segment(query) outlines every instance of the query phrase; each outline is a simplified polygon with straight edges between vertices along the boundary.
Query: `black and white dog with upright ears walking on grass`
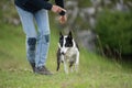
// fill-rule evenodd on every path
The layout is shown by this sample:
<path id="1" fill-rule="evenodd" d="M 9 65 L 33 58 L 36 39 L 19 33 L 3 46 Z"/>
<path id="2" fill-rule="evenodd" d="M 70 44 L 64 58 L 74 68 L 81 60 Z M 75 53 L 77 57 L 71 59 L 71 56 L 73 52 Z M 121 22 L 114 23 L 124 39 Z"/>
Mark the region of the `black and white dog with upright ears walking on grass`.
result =
<path id="1" fill-rule="evenodd" d="M 64 70 L 68 74 L 68 69 L 73 72 L 73 67 L 78 72 L 79 65 L 79 48 L 77 43 L 75 43 L 72 32 L 68 35 L 63 35 L 59 33 L 59 43 L 57 51 L 57 69 L 59 69 L 61 63 L 64 63 Z M 69 67 L 67 66 L 69 65 Z"/>

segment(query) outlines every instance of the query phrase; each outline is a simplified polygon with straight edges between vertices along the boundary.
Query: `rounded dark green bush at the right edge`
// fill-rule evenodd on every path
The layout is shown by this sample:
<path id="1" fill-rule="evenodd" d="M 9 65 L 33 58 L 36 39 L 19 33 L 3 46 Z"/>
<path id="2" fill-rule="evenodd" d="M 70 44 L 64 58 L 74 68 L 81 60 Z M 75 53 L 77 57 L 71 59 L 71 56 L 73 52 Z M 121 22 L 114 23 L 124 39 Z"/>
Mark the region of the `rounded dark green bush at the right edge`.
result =
<path id="1" fill-rule="evenodd" d="M 105 11 L 97 19 L 96 31 L 103 51 L 132 54 L 132 12 Z"/>

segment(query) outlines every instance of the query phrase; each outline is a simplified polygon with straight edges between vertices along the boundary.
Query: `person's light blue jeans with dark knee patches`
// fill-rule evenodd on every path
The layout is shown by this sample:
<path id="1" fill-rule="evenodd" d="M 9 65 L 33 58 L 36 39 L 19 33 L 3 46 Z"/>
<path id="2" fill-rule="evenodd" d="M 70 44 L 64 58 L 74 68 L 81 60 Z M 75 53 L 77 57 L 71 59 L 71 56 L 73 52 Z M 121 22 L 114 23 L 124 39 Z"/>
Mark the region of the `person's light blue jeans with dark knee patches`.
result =
<path id="1" fill-rule="evenodd" d="M 28 12 L 19 7 L 16 10 L 26 35 L 28 61 L 35 63 L 35 67 L 42 67 L 46 63 L 50 46 L 48 13 L 45 9 L 36 13 Z M 34 22 L 36 22 L 37 29 Z"/>

